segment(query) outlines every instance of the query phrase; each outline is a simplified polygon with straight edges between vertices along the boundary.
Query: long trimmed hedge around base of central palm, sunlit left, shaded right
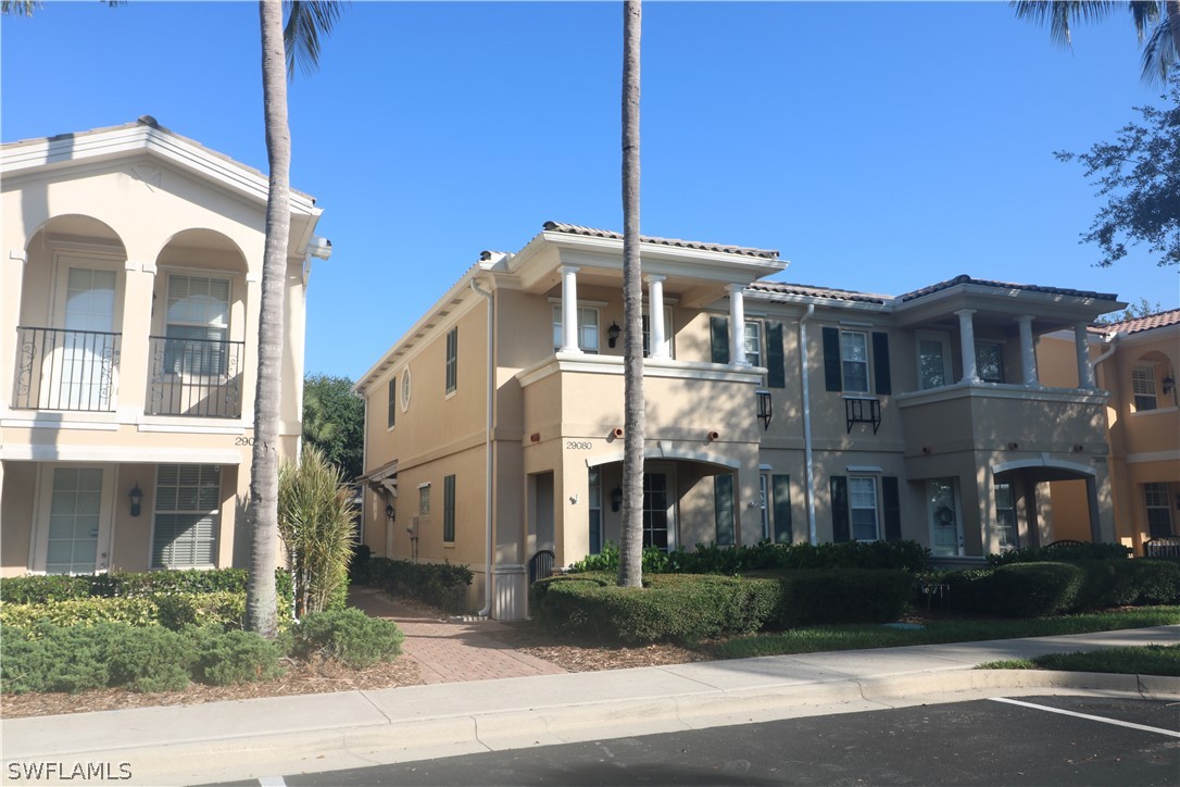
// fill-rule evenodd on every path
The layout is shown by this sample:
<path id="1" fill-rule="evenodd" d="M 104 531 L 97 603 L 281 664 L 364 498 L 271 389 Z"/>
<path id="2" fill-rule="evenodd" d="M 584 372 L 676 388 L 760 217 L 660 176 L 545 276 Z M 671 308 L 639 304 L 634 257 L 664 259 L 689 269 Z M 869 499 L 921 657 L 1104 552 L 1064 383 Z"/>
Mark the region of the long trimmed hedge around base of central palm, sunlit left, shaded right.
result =
<path id="1" fill-rule="evenodd" d="M 543 625 L 611 642 L 691 643 L 763 628 L 897 619 L 912 592 L 904 571 L 788 571 L 752 577 L 651 575 L 620 588 L 605 572 L 542 579 Z"/>

